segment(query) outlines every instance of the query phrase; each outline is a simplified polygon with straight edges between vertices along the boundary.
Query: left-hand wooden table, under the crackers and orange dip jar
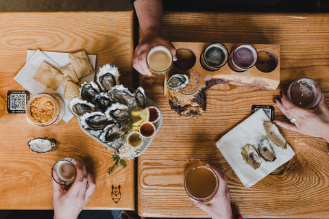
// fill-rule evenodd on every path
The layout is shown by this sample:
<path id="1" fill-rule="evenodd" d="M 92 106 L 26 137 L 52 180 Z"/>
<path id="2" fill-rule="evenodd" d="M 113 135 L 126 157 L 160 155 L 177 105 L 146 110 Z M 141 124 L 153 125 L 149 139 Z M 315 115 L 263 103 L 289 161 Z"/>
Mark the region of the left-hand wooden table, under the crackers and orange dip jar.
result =
<path id="1" fill-rule="evenodd" d="M 14 76 L 25 64 L 27 49 L 97 55 L 97 67 L 113 63 L 121 82 L 132 86 L 133 12 L 10 12 L 0 14 L 0 96 L 24 90 Z M 134 161 L 108 175 L 112 151 L 87 136 L 77 118 L 50 127 L 29 123 L 25 114 L 0 119 L 0 209 L 52 209 L 51 166 L 64 157 L 84 157 L 97 188 L 84 209 L 135 208 Z M 45 154 L 29 150 L 38 137 L 56 138 L 60 145 Z M 121 200 L 114 203 L 112 185 L 121 185 Z"/>

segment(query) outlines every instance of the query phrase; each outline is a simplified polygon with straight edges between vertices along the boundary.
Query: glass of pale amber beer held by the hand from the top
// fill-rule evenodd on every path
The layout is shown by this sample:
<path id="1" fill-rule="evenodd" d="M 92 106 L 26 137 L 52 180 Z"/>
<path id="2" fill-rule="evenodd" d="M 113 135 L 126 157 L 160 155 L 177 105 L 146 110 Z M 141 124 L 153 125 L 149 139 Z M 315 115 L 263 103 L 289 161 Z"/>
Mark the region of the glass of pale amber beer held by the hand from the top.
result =
<path id="1" fill-rule="evenodd" d="M 152 48 L 147 54 L 147 66 L 154 75 L 163 75 L 173 63 L 173 55 L 163 46 Z"/>

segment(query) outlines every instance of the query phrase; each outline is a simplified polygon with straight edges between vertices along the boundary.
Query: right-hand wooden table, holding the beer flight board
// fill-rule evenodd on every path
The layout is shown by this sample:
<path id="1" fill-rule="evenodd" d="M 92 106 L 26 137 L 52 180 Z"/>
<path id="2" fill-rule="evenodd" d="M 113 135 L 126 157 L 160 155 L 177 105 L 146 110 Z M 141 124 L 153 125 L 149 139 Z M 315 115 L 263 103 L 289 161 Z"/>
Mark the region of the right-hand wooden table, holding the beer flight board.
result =
<path id="1" fill-rule="evenodd" d="M 328 143 L 282 130 L 296 155 L 245 188 L 215 142 L 250 115 L 253 104 L 274 105 L 291 81 L 311 77 L 329 101 L 329 14 L 255 14 L 169 12 L 164 35 L 176 42 L 280 44 L 280 86 L 275 91 L 217 85 L 206 91 L 201 118 L 180 118 L 163 95 L 163 79 L 142 77 L 147 95 L 164 115 L 158 135 L 138 157 L 138 214 L 151 217 L 206 217 L 188 199 L 183 172 L 191 159 L 210 162 L 228 177 L 234 211 L 244 218 L 329 218 Z M 287 120 L 275 107 L 275 117 Z"/>

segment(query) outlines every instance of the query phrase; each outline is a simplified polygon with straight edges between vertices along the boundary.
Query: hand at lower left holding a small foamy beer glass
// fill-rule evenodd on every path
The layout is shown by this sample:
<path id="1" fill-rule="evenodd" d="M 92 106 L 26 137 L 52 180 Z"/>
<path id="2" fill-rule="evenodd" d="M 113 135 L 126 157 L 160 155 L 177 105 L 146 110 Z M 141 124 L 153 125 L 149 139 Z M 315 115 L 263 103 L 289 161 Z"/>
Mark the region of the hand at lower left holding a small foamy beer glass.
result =
<path id="1" fill-rule="evenodd" d="M 77 159 L 77 175 L 69 190 L 62 190 L 60 184 L 53 183 L 54 219 L 75 219 L 93 194 L 96 184 L 81 158 Z"/>

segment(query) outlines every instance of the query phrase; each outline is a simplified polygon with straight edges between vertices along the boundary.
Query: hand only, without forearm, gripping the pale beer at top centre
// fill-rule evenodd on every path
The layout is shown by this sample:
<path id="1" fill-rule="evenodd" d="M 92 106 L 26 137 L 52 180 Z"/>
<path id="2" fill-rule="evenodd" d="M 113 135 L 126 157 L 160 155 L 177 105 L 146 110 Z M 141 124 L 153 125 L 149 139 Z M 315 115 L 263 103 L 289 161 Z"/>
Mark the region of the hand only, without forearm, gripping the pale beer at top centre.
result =
<path id="1" fill-rule="evenodd" d="M 152 75 L 151 70 L 147 67 L 147 53 L 149 53 L 149 50 L 153 47 L 160 45 L 167 47 L 167 49 L 171 51 L 171 54 L 173 54 L 173 61 L 177 60 L 176 49 L 173 47 L 173 44 L 164 38 L 160 29 L 150 27 L 143 31 L 143 40 L 141 40 L 135 49 L 132 66 L 138 71 L 138 73 L 141 73 L 142 75 Z"/>

